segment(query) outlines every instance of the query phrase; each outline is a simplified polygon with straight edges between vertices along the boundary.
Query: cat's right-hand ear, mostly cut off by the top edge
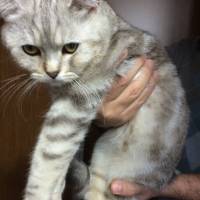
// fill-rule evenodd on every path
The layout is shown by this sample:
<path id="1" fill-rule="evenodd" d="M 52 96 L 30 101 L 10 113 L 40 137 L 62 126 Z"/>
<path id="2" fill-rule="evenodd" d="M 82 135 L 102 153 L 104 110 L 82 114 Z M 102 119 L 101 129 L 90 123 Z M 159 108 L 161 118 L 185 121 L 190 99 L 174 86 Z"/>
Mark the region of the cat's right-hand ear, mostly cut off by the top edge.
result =
<path id="1" fill-rule="evenodd" d="M 101 0 L 69 0 L 69 6 L 80 5 L 89 9 L 98 8 Z"/>

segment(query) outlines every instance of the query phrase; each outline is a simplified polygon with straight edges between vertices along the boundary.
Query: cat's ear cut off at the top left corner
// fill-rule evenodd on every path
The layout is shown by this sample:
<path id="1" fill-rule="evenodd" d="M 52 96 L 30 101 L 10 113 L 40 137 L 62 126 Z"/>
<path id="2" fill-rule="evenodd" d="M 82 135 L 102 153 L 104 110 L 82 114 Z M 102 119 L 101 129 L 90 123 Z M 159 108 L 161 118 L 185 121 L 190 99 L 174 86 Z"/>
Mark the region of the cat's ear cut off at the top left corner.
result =
<path id="1" fill-rule="evenodd" d="M 23 1 L 19 0 L 0 0 L 0 17 L 5 21 L 13 21 L 25 12 Z"/>

